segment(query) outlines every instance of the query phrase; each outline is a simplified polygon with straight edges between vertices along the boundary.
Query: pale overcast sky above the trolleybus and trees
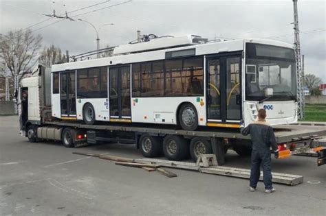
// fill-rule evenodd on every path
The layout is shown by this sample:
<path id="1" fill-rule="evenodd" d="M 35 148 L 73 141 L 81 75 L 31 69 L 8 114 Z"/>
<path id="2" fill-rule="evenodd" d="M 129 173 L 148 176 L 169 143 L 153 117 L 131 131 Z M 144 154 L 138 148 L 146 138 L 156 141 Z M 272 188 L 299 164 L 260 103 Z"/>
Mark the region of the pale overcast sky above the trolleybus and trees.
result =
<path id="1" fill-rule="evenodd" d="M 317 75 L 324 83 L 325 2 L 298 0 L 301 53 L 305 55 L 305 73 Z M 91 5 L 94 6 L 89 7 Z M 80 8 L 85 9 L 78 10 Z M 53 14 L 53 10 L 56 14 L 67 11 L 68 16 L 75 21 L 49 19 L 43 15 Z M 74 10 L 76 11 L 73 12 Z M 293 20 L 292 0 L 0 0 L 0 34 L 30 27 L 33 34 L 43 36 L 44 47 L 56 45 L 63 51 L 69 50 L 70 55 L 96 49 L 96 31 L 89 23 L 97 29 L 100 47 L 103 48 L 135 40 L 137 30 L 142 34 L 157 36 L 195 34 L 209 40 L 270 38 L 293 44 Z M 110 23 L 114 25 L 109 25 Z"/>

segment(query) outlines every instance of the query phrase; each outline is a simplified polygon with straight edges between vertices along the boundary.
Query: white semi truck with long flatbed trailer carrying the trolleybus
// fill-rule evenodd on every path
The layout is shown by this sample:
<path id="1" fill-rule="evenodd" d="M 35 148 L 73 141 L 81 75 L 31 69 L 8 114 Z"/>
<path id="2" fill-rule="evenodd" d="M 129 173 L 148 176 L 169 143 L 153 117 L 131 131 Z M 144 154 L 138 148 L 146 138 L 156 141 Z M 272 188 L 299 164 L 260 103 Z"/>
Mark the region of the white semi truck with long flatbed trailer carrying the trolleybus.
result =
<path id="1" fill-rule="evenodd" d="M 28 110 L 28 117 L 21 118 L 21 134 L 31 142 L 62 141 L 65 147 L 118 142 L 136 144 L 143 156 L 164 156 L 169 160 L 197 160 L 201 154 L 215 154 L 219 165 L 225 163 L 225 154 L 232 148 L 240 156 L 251 154 L 250 136 L 243 136 L 239 128 L 198 128 L 195 131 L 175 130 L 173 126 L 137 123 L 96 123 L 86 125 L 81 121 L 60 120 L 51 115 L 51 78 L 47 67 L 40 66 L 36 75 L 23 79 L 19 96 L 27 91 L 28 103 L 20 106 Z M 19 98 L 17 101 L 21 101 Z M 21 101 L 23 104 L 23 101 Z M 28 107 L 26 107 L 28 104 Z M 21 112 L 21 117 L 25 111 Z M 313 149 L 312 141 L 326 135 L 326 128 L 301 125 L 274 127 L 276 142 L 282 157 L 301 154 Z M 318 147 L 318 165 L 326 163 L 326 148 Z"/>

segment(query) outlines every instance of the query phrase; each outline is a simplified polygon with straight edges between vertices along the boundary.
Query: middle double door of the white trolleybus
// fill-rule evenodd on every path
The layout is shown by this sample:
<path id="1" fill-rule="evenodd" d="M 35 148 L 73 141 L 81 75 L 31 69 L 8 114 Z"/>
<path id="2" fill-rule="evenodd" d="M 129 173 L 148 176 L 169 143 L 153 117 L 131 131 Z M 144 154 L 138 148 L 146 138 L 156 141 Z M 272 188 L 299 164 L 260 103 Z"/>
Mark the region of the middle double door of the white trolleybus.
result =
<path id="1" fill-rule="evenodd" d="M 130 67 L 109 69 L 110 121 L 131 121 Z"/>

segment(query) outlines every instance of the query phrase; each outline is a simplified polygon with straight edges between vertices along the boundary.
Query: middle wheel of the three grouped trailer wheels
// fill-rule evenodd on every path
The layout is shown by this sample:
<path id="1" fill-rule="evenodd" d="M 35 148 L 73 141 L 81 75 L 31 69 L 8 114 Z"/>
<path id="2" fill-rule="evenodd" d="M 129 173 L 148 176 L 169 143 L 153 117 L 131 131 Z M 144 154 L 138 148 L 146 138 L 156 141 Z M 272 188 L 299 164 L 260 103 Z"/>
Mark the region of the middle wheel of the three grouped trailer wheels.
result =
<path id="1" fill-rule="evenodd" d="M 189 154 L 188 141 L 181 136 L 167 135 L 163 141 L 163 153 L 169 160 L 182 160 Z"/>

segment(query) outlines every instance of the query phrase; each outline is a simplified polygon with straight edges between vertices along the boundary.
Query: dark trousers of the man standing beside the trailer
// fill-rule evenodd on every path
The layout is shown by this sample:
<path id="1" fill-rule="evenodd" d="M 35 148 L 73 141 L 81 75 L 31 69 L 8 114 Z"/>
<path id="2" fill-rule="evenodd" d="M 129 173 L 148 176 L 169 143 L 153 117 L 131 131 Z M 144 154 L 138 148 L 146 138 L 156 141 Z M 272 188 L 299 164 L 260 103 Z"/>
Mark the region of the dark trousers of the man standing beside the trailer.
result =
<path id="1" fill-rule="evenodd" d="M 270 149 L 252 150 L 251 153 L 251 172 L 250 172 L 250 187 L 257 187 L 261 174 L 260 167 L 263 167 L 263 183 L 265 189 L 272 189 L 272 171 L 270 169 Z"/>

